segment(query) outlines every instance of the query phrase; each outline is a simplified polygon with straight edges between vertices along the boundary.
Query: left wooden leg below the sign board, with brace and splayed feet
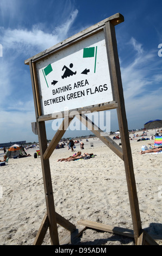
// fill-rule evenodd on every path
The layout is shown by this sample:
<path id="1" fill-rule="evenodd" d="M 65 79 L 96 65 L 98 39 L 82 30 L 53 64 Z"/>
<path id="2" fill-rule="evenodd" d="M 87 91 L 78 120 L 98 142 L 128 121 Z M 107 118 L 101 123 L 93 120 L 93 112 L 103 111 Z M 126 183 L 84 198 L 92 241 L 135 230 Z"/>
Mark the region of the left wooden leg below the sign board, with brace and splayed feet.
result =
<path id="1" fill-rule="evenodd" d="M 49 233 L 51 236 L 52 245 L 59 245 L 58 239 L 58 229 L 57 224 L 60 224 L 70 232 L 76 230 L 76 226 L 67 221 L 64 217 L 60 216 L 55 212 L 54 209 L 54 199 L 53 199 L 53 190 L 52 190 L 52 180 L 51 180 L 51 172 L 49 168 L 49 157 L 53 153 L 53 150 L 59 143 L 60 139 L 63 137 L 65 133 L 65 128 L 67 129 L 73 118 L 64 118 L 63 123 L 59 127 L 58 131 L 55 133 L 51 143 L 48 148 L 43 145 L 47 144 L 46 132 L 45 132 L 45 124 L 44 122 L 38 123 L 38 135 L 40 136 L 40 151 L 41 151 L 41 160 L 42 160 L 42 173 L 43 173 L 43 183 L 45 187 L 45 195 L 46 195 L 46 205 L 47 205 L 47 213 L 43 218 L 38 234 L 35 237 L 34 245 L 41 245 L 46 231 L 49 227 Z M 42 143 L 42 139 L 44 140 Z"/>

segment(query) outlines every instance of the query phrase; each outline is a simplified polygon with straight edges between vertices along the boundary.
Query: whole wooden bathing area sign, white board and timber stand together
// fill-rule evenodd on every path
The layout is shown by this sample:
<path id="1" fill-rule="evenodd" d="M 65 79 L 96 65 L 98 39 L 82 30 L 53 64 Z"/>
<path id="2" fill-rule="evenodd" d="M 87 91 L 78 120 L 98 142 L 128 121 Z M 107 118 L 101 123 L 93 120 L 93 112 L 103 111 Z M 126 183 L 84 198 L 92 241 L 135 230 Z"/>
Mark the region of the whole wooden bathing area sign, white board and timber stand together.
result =
<path id="1" fill-rule="evenodd" d="M 136 245 L 157 245 L 141 227 L 115 35 L 115 25 L 123 20 L 121 14 L 115 14 L 25 61 L 30 66 L 36 115 L 32 128 L 39 137 L 47 208 L 34 245 L 41 245 L 48 227 L 52 245 L 68 243 L 88 227 L 134 237 Z M 86 127 L 91 127 L 91 131 L 123 160 L 133 230 L 82 220 L 79 224 L 85 225 L 85 228 L 80 231 L 55 212 L 49 157 L 73 117 L 64 116 L 61 129 L 55 133 L 48 147 L 45 121 L 53 119 L 52 113 L 67 111 L 67 108 L 76 109 L 76 117 L 81 118 Z M 101 111 L 112 108 L 117 111 L 122 147 L 109 136 L 101 137 L 99 127 L 82 113 L 83 109 Z M 70 231 L 62 241 L 59 241 L 57 224 Z"/>

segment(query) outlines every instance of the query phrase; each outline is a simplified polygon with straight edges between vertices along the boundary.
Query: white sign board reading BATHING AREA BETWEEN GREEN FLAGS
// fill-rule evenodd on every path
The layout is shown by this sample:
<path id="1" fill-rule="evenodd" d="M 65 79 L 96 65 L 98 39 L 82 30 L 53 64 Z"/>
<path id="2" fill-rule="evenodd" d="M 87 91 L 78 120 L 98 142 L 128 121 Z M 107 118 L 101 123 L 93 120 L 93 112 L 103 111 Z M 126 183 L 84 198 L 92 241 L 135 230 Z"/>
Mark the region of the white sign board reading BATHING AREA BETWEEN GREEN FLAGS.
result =
<path id="1" fill-rule="evenodd" d="M 113 101 L 104 32 L 36 63 L 42 115 Z"/>

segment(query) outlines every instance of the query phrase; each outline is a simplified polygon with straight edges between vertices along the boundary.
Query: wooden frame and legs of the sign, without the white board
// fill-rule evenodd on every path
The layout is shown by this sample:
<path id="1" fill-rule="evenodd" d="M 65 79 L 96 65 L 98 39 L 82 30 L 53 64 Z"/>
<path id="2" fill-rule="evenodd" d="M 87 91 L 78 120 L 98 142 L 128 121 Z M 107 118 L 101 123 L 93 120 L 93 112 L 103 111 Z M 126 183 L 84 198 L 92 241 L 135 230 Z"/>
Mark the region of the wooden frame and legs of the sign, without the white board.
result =
<path id="1" fill-rule="evenodd" d="M 46 208 L 47 212 L 45 217 L 42 220 L 38 234 L 35 237 L 34 245 L 41 245 L 43 239 L 46 235 L 47 229 L 49 227 L 49 234 L 51 237 L 52 245 L 63 245 L 71 241 L 72 237 L 81 234 L 85 228 L 93 228 L 103 231 L 108 231 L 110 233 L 120 234 L 124 236 L 134 237 L 136 245 L 157 245 L 157 243 L 148 236 L 148 234 L 142 230 L 138 196 L 136 192 L 136 184 L 134 177 L 132 153 L 130 149 L 128 126 L 126 111 L 124 107 L 124 97 L 120 73 L 120 64 L 119 57 L 117 53 L 117 43 L 115 35 L 115 25 L 124 21 L 124 18 L 121 14 L 115 14 L 108 19 L 105 19 L 96 25 L 85 29 L 85 31 L 80 32 L 71 38 L 60 42 L 59 44 L 49 48 L 46 51 L 43 51 L 32 58 L 27 59 L 24 63 L 30 66 L 30 75 L 32 80 L 33 96 L 34 96 L 34 106 L 35 106 L 35 115 L 36 123 L 34 124 L 33 130 L 36 130 L 36 134 L 39 137 L 40 153 L 41 153 L 41 165 L 42 165 L 42 175 L 43 175 L 43 184 L 45 189 L 45 198 L 46 198 Z M 85 38 L 89 38 L 91 35 L 94 35 L 100 31 L 104 32 L 108 63 L 109 63 L 109 72 L 111 78 L 111 86 L 113 92 L 113 100 L 108 102 L 101 102 L 92 106 L 78 107 L 77 109 L 72 109 L 72 111 L 77 111 L 79 115 L 76 115 L 80 121 L 84 123 L 94 134 L 101 139 L 114 153 L 119 156 L 124 161 L 124 167 L 126 172 L 126 180 L 129 194 L 130 202 L 130 211 L 132 215 L 133 230 L 128 230 L 124 228 L 112 227 L 110 225 L 100 224 L 91 221 L 81 220 L 78 222 L 81 225 L 81 228 L 78 229 L 76 225 L 67 221 L 63 216 L 60 216 L 55 212 L 54 206 L 54 197 L 53 197 L 53 188 L 51 180 L 51 170 L 49 166 L 49 157 L 53 153 L 53 150 L 59 143 L 60 139 L 63 137 L 68 125 L 74 116 L 66 116 L 65 113 L 61 112 L 64 117 L 63 123 L 61 124 L 61 129 L 55 133 L 51 143 L 47 147 L 47 137 L 46 137 L 46 127 L 45 121 L 53 119 L 52 113 L 42 114 L 42 106 L 40 100 L 40 90 L 38 84 L 38 73 L 36 71 L 36 64 L 41 60 L 49 58 L 53 54 L 67 48 L 73 44 L 76 44 L 79 41 L 82 41 Z M 116 108 L 117 117 L 119 121 L 119 129 L 121 135 L 121 144 L 122 148 L 117 145 L 113 139 L 109 136 L 101 136 L 101 130 L 97 127 L 91 120 L 89 120 L 86 115 L 83 114 L 83 111 L 88 111 L 93 108 L 93 111 L 103 111 L 107 109 Z M 65 229 L 70 231 L 63 240 L 59 241 L 58 228 L 57 224 L 60 224 Z"/>

